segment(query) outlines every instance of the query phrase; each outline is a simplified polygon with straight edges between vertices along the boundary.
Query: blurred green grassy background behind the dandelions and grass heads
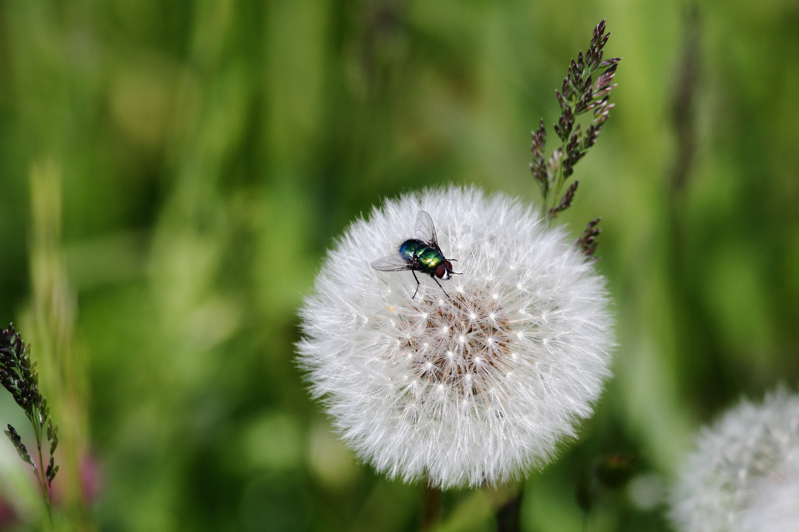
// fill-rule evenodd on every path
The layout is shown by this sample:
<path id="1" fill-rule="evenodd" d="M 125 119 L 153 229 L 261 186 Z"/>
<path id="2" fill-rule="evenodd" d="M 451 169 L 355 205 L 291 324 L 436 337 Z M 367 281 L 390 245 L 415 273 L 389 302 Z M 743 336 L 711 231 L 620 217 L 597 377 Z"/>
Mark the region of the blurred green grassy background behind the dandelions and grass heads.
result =
<path id="1" fill-rule="evenodd" d="M 357 463 L 309 400 L 296 308 L 385 196 L 538 201 L 530 130 L 602 18 L 616 108 L 562 221 L 602 216 L 615 376 L 531 471 L 523 530 L 582 530 L 575 487 L 618 452 L 640 465 L 590 530 L 669 530 L 694 430 L 799 377 L 797 0 L 0 2 L 0 323 L 66 383 L 43 386 L 91 484 L 84 530 L 415 530 L 419 486 Z M 0 450 L 0 522 L 27 530 L 35 493 Z M 482 491 L 443 512 L 494 527 Z"/>

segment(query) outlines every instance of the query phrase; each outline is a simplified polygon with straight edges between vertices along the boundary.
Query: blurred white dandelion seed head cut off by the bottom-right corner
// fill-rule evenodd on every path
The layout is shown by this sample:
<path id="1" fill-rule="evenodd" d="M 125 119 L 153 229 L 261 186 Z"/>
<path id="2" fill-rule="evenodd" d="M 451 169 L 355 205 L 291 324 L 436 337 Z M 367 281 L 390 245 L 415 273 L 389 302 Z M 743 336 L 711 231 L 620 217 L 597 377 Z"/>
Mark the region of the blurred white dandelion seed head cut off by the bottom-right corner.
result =
<path id="1" fill-rule="evenodd" d="M 704 428 L 670 499 L 682 532 L 797 532 L 799 396 L 743 400 Z"/>

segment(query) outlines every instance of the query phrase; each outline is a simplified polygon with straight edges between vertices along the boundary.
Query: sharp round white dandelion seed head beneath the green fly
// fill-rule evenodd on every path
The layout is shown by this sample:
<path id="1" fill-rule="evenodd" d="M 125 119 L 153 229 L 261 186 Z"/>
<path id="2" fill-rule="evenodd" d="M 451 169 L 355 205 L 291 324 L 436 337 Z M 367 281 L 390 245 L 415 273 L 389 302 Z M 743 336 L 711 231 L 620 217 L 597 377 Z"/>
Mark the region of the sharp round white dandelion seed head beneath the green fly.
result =
<path id="1" fill-rule="evenodd" d="M 419 209 L 463 273 L 442 282 L 448 298 L 419 273 L 411 298 L 410 272 L 369 266 L 413 236 Z M 353 311 L 368 321 L 352 326 Z M 352 223 L 301 315 L 314 396 L 361 459 L 407 481 L 519 478 L 574 436 L 609 376 L 611 320 L 594 266 L 531 208 L 475 188 L 405 195 Z M 543 349 L 545 336 L 558 341 Z"/>

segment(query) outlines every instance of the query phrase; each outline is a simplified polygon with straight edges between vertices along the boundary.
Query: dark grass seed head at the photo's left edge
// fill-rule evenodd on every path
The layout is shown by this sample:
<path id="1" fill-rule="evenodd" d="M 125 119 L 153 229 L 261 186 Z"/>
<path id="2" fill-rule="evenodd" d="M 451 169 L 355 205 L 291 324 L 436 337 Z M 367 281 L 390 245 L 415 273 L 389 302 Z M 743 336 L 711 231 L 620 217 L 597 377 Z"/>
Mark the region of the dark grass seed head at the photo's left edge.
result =
<path id="1" fill-rule="evenodd" d="M 47 404 L 46 397 L 39 392 L 39 374 L 36 362 L 30 362 L 30 346 L 22 341 L 22 337 L 14 330 L 14 324 L 9 325 L 8 329 L 0 331 L 0 383 L 22 407 L 34 427 L 38 467 L 30 458 L 16 429 L 8 425 L 8 430 L 4 432 L 14 444 L 20 458 L 34 468 L 39 488 L 49 504 L 50 484 L 58 473 L 58 465 L 55 464 L 54 459 L 55 449 L 58 447 L 58 424 L 53 425 L 50 406 Z M 50 444 L 50 461 L 46 467 L 42 459 L 43 436 L 46 436 L 46 442 Z"/>

